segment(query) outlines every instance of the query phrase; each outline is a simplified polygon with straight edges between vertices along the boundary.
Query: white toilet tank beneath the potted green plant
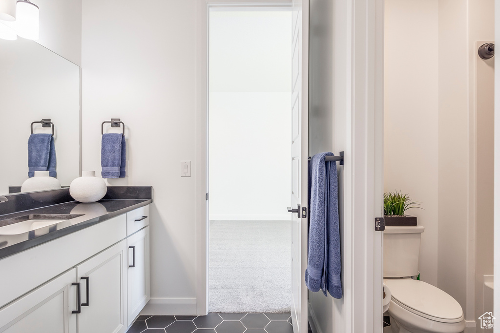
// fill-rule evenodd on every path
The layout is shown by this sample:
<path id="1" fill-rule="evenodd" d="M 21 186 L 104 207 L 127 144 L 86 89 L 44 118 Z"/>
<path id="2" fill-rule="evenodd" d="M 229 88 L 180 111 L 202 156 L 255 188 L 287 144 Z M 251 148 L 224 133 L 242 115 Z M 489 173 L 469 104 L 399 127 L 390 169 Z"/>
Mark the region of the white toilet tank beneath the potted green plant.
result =
<path id="1" fill-rule="evenodd" d="M 424 228 L 385 227 L 383 232 L 383 277 L 418 275 L 420 238 Z"/>

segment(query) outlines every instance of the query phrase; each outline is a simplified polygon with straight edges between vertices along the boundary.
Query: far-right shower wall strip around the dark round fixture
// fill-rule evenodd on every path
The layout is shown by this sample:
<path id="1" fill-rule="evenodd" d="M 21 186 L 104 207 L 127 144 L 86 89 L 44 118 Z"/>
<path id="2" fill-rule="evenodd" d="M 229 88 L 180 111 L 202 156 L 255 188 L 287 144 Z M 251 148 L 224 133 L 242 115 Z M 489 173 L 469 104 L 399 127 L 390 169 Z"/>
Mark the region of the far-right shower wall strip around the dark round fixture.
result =
<path id="1" fill-rule="evenodd" d="M 485 312 L 493 311 L 492 302 L 488 302 L 490 290 L 484 286 L 484 281 L 493 274 L 493 108 L 494 108 L 494 58 L 483 60 L 477 56 L 477 48 L 483 42 L 494 40 L 494 0 L 469 1 L 468 3 L 469 32 L 469 122 L 477 126 L 471 130 L 471 155 L 475 155 L 475 163 L 471 165 L 471 177 L 475 181 L 472 186 L 470 218 L 468 224 L 469 241 L 475 251 L 467 250 L 470 258 L 467 276 L 467 312 L 469 317 L 474 313 L 474 320 Z M 474 207 L 475 206 L 475 207 Z M 475 208 L 475 209 L 474 209 Z M 474 230 L 475 228 L 475 230 Z M 475 244 L 474 244 L 475 243 Z M 475 252 L 475 253 L 473 253 Z M 472 267 L 470 267 L 472 268 Z M 472 271 L 472 272 L 471 272 Z M 484 291 L 484 293 L 483 293 Z M 467 318 L 468 319 L 468 318 Z M 471 320 L 471 319 L 470 319 Z M 480 322 L 476 322 L 476 332 L 480 332 Z"/>

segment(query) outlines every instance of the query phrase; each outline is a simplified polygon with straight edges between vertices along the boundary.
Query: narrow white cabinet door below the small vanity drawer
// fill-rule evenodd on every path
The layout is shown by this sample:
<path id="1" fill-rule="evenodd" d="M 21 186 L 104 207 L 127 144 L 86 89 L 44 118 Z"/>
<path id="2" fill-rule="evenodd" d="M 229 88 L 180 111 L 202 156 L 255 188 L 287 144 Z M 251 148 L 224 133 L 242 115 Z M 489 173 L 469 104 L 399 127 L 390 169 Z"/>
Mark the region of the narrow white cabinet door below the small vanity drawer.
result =
<path id="1" fill-rule="evenodd" d="M 149 227 L 127 238 L 128 325 L 149 301 Z"/>

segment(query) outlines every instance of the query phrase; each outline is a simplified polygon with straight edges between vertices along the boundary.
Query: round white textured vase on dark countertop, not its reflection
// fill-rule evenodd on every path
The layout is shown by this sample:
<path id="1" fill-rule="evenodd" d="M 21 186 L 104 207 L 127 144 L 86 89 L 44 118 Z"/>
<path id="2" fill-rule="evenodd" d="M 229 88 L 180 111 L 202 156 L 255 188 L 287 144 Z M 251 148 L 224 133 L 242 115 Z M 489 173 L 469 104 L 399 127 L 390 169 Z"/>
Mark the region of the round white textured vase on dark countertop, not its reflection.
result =
<path id="1" fill-rule="evenodd" d="M 69 194 L 79 202 L 96 202 L 106 194 L 104 179 L 95 177 L 95 171 L 82 171 L 81 177 L 69 185 Z"/>

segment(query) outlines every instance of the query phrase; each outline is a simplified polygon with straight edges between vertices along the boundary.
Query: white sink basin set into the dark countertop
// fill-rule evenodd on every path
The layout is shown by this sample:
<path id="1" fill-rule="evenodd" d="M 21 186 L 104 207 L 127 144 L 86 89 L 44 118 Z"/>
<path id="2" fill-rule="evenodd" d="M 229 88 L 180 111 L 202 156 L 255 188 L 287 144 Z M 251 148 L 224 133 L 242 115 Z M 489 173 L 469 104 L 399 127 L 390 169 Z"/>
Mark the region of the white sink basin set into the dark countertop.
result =
<path id="1" fill-rule="evenodd" d="M 0 221 L 0 235 L 19 235 L 59 222 L 74 219 L 81 215 L 31 214 Z"/>

